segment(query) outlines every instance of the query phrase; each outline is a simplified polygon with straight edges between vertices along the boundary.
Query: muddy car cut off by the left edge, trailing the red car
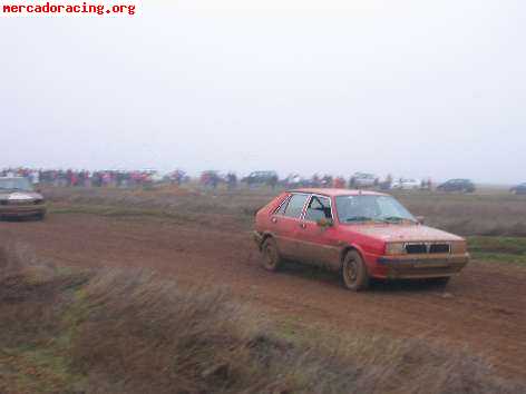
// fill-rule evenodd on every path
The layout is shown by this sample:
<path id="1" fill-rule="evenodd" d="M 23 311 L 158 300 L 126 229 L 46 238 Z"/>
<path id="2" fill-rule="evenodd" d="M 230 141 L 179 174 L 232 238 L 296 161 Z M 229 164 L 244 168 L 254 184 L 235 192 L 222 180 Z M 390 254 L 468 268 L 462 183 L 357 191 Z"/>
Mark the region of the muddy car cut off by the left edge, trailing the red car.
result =
<path id="1" fill-rule="evenodd" d="M 0 177 L 0 217 L 32 216 L 43 219 L 46 201 L 22 177 Z"/>

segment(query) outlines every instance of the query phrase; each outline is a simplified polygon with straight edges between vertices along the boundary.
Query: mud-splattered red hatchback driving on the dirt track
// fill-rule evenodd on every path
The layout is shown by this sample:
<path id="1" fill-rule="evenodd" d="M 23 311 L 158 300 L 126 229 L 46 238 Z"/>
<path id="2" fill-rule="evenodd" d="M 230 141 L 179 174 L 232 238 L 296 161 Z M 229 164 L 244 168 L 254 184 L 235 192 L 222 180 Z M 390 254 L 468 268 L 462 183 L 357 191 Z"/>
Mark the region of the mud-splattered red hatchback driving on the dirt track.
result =
<path id="1" fill-rule="evenodd" d="M 264 267 L 285 260 L 325 266 L 343 285 L 371 278 L 429 278 L 442 284 L 469 260 L 466 240 L 423 226 L 393 197 L 373 191 L 298 189 L 282 193 L 255 217 Z"/>

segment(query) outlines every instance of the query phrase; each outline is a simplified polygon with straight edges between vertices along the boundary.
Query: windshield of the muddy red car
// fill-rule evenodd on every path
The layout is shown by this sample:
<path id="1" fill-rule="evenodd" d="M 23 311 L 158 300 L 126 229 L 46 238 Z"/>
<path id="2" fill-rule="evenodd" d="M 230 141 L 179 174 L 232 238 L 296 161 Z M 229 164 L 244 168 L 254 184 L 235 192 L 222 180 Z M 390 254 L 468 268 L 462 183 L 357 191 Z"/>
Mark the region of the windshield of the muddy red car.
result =
<path id="1" fill-rule="evenodd" d="M 417 219 L 391 196 L 353 195 L 335 198 L 341 224 L 359 221 L 399 223 Z"/>

